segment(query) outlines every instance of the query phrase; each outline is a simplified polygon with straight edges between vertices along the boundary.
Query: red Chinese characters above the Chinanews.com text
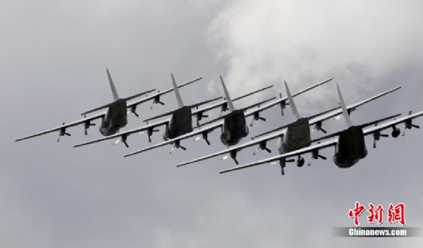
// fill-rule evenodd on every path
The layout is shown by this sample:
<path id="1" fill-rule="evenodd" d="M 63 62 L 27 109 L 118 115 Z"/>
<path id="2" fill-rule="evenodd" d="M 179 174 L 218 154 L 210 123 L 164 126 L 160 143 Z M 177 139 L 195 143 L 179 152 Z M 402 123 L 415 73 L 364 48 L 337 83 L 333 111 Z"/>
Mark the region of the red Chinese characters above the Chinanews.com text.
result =
<path id="1" fill-rule="evenodd" d="M 355 202 L 355 208 L 348 211 L 348 216 L 354 218 L 354 225 L 360 226 L 358 217 L 364 212 L 364 209 L 366 209 L 364 205 L 360 204 L 360 202 Z M 367 211 L 369 212 L 367 223 L 374 224 L 377 222 L 381 225 L 381 223 L 384 222 L 384 207 L 381 204 L 375 206 L 369 203 L 369 209 L 367 209 Z M 389 204 L 387 215 L 388 223 L 392 224 L 398 221 L 401 225 L 405 225 L 405 204 L 400 203 L 395 206 Z"/>

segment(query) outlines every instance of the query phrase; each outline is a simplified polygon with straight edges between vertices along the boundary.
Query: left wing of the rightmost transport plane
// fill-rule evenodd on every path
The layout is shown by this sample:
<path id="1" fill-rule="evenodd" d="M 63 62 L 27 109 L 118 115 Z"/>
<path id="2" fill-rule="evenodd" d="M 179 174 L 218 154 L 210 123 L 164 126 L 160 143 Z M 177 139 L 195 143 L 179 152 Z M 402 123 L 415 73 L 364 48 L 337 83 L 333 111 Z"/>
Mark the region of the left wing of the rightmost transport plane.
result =
<path id="1" fill-rule="evenodd" d="M 219 173 L 228 173 L 230 171 L 238 171 L 238 170 L 241 170 L 241 169 L 244 169 L 244 168 L 259 166 L 263 163 L 271 163 L 271 162 L 274 162 L 274 161 L 281 161 L 283 159 L 286 160 L 290 157 L 301 156 L 302 154 L 307 154 L 307 153 L 310 153 L 310 152 L 313 152 L 313 151 L 319 151 L 319 150 L 325 149 L 327 147 L 333 147 L 333 146 L 336 145 L 337 142 L 338 142 L 338 139 L 328 140 L 326 142 L 314 144 L 310 147 L 305 147 L 303 149 L 291 151 L 291 152 L 288 152 L 286 154 L 281 154 L 281 155 L 278 155 L 278 156 L 272 156 L 269 159 L 263 159 L 263 160 L 260 160 L 260 161 L 257 161 L 257 162 L 247 163 L 243 166 L 236 166 L 236 167 L 233 167 L 233 168 L 226 169 L 224 171 L 219 171 Z"/>

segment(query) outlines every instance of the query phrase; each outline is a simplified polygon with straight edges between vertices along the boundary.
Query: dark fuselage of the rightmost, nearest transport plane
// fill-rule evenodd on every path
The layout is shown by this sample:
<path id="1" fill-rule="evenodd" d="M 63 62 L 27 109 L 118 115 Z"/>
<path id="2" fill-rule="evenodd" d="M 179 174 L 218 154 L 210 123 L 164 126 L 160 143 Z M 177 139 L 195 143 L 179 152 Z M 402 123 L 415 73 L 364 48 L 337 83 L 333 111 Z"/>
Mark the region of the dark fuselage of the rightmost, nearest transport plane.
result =
<path id="1" fill-rule="evenodd" d="M 350 168 L 367 156 L 363 130 L 352 126 L 340 133 L 336 144 L 333 163 L 339 168 Z"/>

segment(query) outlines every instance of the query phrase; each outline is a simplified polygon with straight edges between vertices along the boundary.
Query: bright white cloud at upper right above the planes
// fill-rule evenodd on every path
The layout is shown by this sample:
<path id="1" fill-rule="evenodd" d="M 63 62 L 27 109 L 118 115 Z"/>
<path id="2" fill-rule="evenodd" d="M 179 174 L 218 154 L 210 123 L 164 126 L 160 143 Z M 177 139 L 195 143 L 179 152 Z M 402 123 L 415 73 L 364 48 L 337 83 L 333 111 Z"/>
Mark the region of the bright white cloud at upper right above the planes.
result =
<path id="1" fill-rule="evenodd" d="M 421 1 L 234 1 L 209 32 L 230 89 L 333 76 L 354 94 L 422 64 L 421 9 Z"/>

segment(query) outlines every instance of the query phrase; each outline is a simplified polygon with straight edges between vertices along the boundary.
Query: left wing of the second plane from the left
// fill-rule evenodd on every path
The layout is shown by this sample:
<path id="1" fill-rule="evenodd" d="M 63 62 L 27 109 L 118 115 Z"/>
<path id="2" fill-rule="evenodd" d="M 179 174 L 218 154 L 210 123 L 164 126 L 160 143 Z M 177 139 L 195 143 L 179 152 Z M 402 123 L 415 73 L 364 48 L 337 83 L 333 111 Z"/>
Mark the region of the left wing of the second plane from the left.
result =
<path id="1" fill-rule="evenodd" d="M 152 135 L 152 133 L 159 131 L 159 130 L 155 130 L 154 128 L 158 128 L 161 125 L 166 125 L 167 123 L 168 123 L 168 120 L 161 120 L 157 123 L 145 125 L 145 126 L 142 126 L 140 128 L 134 128 L 134 129 L 131 129 L 131 130 L 128 130 L 128 131 L 125 131 L 125 132 L 118 132 L 118 133 L 116 133 L 116 135 L 109 135 L 109 136 L 106 136 L 106 137 L 99 138 L 97 140 L 90 140 L 90 141 L 83 142 L 83 143 L 80 143 L 80 144 L 75 144 L 73 147 L 82 147 L 82 146 L 85 146 L 87 144 L 102 142 L 104 140 L 111 140 L 111 139 L 115 139 L 115 138 L 118 138 L 118 137 L 120 138 L 120 140 L 118 140 L 116 142 L 121 141 L 121 142 L 123 142 L 123 144 L 125 144 L 126 147 L 129 147 L 128 143 L 126 142 L 126 139 L 128 138 L 129 135 L 132 135 L 135 132 L 145 132 L 145 131 L 147 131 L 149 141 L 151 141 L 150 136 Z"/>

